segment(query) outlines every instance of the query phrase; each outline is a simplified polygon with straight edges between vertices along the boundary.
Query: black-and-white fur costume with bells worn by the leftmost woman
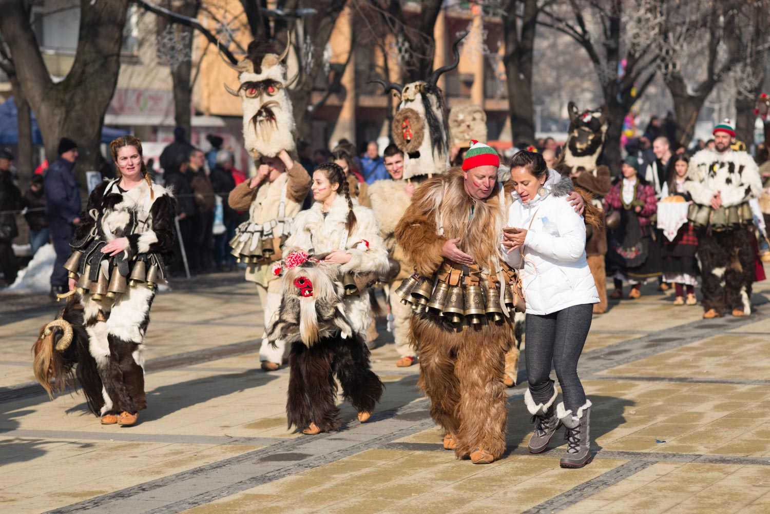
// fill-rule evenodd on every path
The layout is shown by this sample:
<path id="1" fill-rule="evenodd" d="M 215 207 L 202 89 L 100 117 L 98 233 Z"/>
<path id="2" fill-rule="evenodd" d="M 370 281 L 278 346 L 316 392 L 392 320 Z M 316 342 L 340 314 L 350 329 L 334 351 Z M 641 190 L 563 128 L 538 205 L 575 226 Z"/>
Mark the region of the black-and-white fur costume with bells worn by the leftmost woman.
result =
<path id="1" fill-rule="evenodd" d="M 144 181 L 123 192 L 119 180 L 102 182 L 89 196 L 87 215 L 75 229 L 75 252 L 70 259 L 79 256 L 73 272 L 79 275 L 79 289 L 59 315 L 75 329 L 76 344 L 70 345 L 63 362 L 69 362 L 70 368 L 78 362 L 79 382 L 89 407 L 99 416 L 135 414 L 147 406 L 144 338 L 156 293 L 156 282 L 150 280 L 152 272 L 157 272 L 155 280 L 162 280 L 174 241 L 172 192 Z M 106 243 L 121 237 L 129 240 L 125 252 L 115 256 L 101 252 Z M 117 275 L 126 281 L 124 292 L 99 292 L 99 282 Z M 72 305 L 77 299 L 82 309 Z M 82 351 L 82 328 L 88 336 L 88 352 Z M 56 370 L 52 372 L 55 376 Z M 50 377 L 39 376 L 41 382 L 46 378 Z"/>

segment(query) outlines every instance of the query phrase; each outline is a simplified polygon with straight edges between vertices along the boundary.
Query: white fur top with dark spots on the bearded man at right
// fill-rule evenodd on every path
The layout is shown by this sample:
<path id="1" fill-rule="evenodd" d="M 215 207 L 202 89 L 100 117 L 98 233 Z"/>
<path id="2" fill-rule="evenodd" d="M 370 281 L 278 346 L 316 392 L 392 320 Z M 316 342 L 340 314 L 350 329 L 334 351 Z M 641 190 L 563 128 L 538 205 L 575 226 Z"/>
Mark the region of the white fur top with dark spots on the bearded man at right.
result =
<path id="1" fill-rule="evenodd" d="M 746 152 L 728 150 L 718 154 L 703 149 L 690 159 L 685 192 L 698 205 L 711 205 L 717 192 L 722 205 L 731 207 L 762 195 L 762 179 L 756 162 Z"/>

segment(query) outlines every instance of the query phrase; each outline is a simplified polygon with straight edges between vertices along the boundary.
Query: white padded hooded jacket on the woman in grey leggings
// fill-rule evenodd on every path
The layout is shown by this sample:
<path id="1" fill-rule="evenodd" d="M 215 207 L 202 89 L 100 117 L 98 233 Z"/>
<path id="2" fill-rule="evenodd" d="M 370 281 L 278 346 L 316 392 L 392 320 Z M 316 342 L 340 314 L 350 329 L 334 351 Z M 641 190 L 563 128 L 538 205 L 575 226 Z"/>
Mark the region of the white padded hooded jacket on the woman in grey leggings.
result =
<path id="1" fill-rule="evenodd" d="M 546 315 L 574 305 L 598 303 L 599 294 L 585 258 L 585 223 L 567 202 L 572 181 L 553 169 L 534 199 L 524 203 L 516 192 L 508 209 L 508 226 L 527 229 L 521 279 L 527 314 Z M 544 194 L 541 195 L 541 192 Z M 521 252 L 506 253 L 518 268 Z"/>

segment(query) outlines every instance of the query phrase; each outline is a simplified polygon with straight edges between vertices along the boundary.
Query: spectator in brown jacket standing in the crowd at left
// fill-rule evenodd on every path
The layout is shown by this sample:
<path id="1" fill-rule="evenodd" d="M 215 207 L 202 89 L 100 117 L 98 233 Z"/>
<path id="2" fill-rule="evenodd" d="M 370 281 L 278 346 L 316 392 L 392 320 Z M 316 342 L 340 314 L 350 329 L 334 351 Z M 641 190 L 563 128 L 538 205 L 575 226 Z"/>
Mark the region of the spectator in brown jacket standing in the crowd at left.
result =
<path id="1" fill-rule="evenodd" d="M 187 163 L 187 180 L 192 188 L 196 203 L 196 213 L 192 216 L 192 255 L 187 255 L 190 268 L 196 272 L 207 272 L 211 267 L 213 239 L 212 229 L 214 225 L 214 189 L 211 185 L 206 169 L 206 155 L 203 151 L 193 148 L 189 151 Z"/>

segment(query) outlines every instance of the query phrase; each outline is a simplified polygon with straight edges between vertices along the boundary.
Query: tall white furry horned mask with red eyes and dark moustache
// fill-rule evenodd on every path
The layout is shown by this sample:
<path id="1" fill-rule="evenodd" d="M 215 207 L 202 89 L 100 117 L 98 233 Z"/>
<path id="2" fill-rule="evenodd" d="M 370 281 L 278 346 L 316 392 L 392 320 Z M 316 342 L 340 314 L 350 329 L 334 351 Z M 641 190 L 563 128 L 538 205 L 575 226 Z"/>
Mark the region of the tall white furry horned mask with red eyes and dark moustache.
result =
<path id="1" fill-rule="evenodd" d="M 238 72 L 237 90 L 225 84 L 230 95 L 238 96 L 243 105 L 243 142 L 254 159 L 273 157 L 281 150 L 293 152 L 296 141 L 294 113 L 287 88 L 299 72 L 286 80 L 283 60 L 289 53 L 277 55 L 264 40 L 249 43 L 246 58 L 238 65 L 225 63 Z"/>

